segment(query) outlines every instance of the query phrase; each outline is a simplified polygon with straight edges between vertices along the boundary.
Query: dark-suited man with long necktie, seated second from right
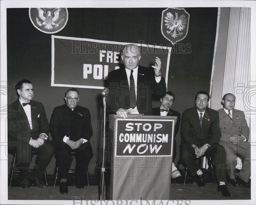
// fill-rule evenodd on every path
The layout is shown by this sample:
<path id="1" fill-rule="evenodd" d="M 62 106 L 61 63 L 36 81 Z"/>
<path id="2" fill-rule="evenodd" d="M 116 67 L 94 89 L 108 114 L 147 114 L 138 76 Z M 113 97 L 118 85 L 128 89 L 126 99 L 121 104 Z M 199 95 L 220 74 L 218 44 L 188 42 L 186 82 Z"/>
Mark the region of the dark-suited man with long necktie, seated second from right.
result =
<path id="1" fill-rule="evenodd" d="M 226 151 L 219 144 L 221 132 L 218 129 L 219 113 L 207 107 L 210 96 L 205 91 L 196 94 L 195 107 L 186 109 L 182 114 L 180 134 L 182 137 L 181 160 L 193 176 L 197 176 L 197 185 L 205 186 L 204 174 L 196 158 L 209 155 L 219 185 L 217 190 L 225 197 L 230 197 L 226 187 Z M 223 168 L 224 166 L 224 168 Z"/>

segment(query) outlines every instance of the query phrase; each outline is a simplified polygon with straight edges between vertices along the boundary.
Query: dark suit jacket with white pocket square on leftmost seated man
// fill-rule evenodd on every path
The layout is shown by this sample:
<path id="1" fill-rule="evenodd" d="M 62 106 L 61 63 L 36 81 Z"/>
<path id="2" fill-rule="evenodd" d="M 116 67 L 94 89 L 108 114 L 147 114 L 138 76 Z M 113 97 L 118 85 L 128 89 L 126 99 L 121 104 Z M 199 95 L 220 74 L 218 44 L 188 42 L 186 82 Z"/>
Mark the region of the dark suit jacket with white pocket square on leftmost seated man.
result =
<path id="1" fill-rule="evenodd" d="M 22 140 L 28 143 L 30 138 L 36 140 L 41 133 L 49 134 L 49 123 L 46 118 L 45 108 L 41 102 L 30 100 L 31 121 L 33 129 L 30 129 L 29 122 L 23 106 L 19 99 L 13 102 L 8 108 L 8 144 L 12 145 Z M 25 134 L 25 138 L 19 138 L 19 134 Z M 12 147 L 10 147 L 12 148 Z"/>

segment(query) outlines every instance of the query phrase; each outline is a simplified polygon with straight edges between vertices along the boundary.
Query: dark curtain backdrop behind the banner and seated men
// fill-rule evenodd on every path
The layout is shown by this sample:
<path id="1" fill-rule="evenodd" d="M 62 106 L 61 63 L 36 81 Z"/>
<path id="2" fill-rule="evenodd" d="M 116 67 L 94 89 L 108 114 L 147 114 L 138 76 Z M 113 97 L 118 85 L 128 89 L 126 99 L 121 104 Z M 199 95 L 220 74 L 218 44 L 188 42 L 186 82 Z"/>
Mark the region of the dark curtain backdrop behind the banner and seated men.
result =
<path id="1" fill-rule="evenodd" d="M 65 28 L 54 35 L 167 46 L 161 33 L 162 11 L 166 8 L 68 8 Z M 7 82 L 11 86 L 29 79 L 34 87 L 34 100 L 44 104 L 48 121 L 54 107 L 64 103 L 67 87 L 51 87 L 51 34 L 37 30 L 29 19 L 28 8 L 7 8 Z M 171 54 L 168 91 L 176 94 L 172 109 L 182 113 L 194 106 L 195 94 L 209 92 L 218 8 L 185 8 L 190 14 L 188 34 L 176 43 Z M 177 45 L 180 44 L 180 45 Z M 185 44 L 191 52 L 182 53 Z M 179 50 L 178 50 L 179 47 Z M 79 88 L 79 105 L 89 108 L 92 121 L 102 113 L 102 90 Z M 13 100 L 17 99 L 15 94 Z M 153 107 L 159 106 L 155 99 Z M 51 138 L 50 138 L 51 139 Z M 176 136 L 177 144 L 180 135 Z M 91 138 L 98 159 L 98 133 Z M 179 149 L 177 149 L 177 152 Z M 175 162 L 177 162 L 179 154 Z M 53 174 L 55 159 L 47 167 Z M 90 173 L 93 170 L 89 170 Z"/>

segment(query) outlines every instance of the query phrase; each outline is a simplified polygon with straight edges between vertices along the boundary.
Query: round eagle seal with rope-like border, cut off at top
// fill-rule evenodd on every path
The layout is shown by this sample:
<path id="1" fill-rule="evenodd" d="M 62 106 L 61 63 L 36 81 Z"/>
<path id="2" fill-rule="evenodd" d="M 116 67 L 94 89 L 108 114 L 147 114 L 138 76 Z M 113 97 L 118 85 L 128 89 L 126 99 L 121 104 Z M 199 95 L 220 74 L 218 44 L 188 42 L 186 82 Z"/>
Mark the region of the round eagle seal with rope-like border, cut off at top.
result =
<path id="1" fill-rule="evenodd" d="M 57 33 L 68 21 L 67 8 L 29 8 L 32 24 L 44 33 Z"/>

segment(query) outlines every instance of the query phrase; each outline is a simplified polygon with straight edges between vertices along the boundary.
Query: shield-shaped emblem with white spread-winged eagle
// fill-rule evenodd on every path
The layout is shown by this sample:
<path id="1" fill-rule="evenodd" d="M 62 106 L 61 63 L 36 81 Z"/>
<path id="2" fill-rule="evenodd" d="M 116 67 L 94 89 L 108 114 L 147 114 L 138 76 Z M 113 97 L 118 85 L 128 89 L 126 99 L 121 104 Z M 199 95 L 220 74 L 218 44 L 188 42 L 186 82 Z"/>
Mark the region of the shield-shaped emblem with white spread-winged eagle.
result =
<path id="1" fill-rule="evenodd" d="M 167 8 L 162 12 L 161 31 L 173 45 L 188 33 L 189 13 L 184 8 Z"/>

